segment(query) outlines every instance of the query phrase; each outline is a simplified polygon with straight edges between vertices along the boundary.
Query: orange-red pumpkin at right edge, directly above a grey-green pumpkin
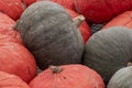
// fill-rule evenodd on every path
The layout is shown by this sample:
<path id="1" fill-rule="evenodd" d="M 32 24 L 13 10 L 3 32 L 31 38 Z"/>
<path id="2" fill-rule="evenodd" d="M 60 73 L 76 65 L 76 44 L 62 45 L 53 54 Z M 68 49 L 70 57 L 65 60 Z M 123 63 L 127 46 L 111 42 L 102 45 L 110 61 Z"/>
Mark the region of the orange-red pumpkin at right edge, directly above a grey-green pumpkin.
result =
<path id="1" fill-rule="evenodd" d="M 113 18 L 110 22 L 108 22 L 102 29 L 111 26 L 125 26 L 132 29 L 132 11 L 125 11 L 119 14 L 118 16 Z"/>

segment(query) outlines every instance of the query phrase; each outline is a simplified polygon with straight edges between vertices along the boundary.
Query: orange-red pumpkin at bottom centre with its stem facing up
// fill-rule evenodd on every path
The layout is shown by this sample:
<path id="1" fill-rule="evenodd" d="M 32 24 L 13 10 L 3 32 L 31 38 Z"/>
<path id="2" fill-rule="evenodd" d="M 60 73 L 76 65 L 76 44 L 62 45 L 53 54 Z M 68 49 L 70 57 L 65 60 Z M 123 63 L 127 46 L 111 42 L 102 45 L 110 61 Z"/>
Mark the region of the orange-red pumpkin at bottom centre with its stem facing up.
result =
<path id="1" fill-rule="evenodd" d="M 102 78 L 82 65 L 50 66 L 31 82 L 31 88 L 105 88 Z"/>

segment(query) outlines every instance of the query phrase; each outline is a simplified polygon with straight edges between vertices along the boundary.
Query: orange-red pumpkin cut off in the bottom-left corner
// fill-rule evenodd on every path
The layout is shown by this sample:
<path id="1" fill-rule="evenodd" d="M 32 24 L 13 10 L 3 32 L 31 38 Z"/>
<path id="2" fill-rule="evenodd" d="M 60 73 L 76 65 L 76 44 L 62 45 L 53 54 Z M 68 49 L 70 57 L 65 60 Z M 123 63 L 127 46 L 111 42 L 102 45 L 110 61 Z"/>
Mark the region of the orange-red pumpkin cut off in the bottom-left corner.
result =
<path id="1" fill-rule="evenodd" d="M 0 72 L 0 88 L 30 88 L 20 77 Z"/>

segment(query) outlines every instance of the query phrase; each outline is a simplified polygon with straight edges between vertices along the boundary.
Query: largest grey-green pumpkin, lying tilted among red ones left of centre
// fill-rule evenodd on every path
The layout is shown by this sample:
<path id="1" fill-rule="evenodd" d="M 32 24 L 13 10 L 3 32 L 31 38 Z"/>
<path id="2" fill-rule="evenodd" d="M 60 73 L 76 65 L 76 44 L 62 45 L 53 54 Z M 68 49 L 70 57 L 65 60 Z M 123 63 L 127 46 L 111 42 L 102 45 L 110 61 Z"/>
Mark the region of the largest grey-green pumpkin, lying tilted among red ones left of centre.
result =
<path id="1" fill-rule="evenodd" d="M 16 30 L 42 69 L 81 61 L 80 32 L 65 9 L 55 2 L 30 6 L 21 15 Z"/>

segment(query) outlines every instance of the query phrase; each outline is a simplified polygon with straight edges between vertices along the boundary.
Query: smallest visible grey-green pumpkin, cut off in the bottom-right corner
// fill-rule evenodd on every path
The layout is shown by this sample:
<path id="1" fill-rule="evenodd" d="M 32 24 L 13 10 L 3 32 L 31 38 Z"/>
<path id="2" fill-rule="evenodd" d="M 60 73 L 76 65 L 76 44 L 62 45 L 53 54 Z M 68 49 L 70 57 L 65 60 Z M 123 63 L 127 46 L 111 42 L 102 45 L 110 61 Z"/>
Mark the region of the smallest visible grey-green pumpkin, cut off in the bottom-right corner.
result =
<path id="1" fill-rule="evenodd" d="M 107 88 L 132 88 L 132 66 L 116 72 Z"/>

